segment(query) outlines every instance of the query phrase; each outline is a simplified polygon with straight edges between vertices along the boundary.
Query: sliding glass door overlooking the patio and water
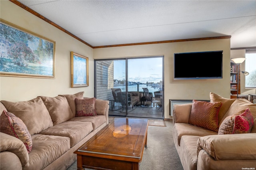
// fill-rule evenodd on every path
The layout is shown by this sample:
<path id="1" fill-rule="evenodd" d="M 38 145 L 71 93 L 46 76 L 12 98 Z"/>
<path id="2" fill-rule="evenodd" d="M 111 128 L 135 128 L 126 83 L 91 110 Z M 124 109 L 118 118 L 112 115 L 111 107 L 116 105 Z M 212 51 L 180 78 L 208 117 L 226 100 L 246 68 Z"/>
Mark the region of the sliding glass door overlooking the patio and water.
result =
<path id="1" fill-rule="evenodd" d="M 94 61 L 95 97 L 109 115 L 163 119 L 163 56 Z"/>

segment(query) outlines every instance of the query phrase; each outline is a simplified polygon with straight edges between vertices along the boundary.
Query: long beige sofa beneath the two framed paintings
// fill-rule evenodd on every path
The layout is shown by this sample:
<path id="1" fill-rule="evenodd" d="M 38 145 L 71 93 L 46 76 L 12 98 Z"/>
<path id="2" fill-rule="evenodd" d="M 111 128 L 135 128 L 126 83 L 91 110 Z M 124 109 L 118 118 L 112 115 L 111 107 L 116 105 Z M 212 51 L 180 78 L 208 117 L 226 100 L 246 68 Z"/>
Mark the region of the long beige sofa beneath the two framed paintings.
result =
<path id="1" fill-rule="evenodd" d="M 1 132 L 0 169 L 66 170 L 76 160 L 73 152 L 108 124 L 109 101 L 95 100 L 95 116 L 75 117 L 76 98 L 89 99 L 80 92 L 22 102 L 1 101 L 1 113 L 13 113 L 26 125 L 32 149 L 28 153 L 22 140 Z"/>

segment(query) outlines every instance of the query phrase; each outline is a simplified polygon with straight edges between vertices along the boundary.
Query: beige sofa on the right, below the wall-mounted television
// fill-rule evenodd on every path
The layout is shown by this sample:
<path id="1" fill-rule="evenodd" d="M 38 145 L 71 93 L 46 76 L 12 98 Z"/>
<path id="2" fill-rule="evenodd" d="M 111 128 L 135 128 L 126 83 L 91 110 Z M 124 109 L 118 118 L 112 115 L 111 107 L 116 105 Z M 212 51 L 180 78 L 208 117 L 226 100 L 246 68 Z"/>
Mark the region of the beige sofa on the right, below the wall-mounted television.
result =
<path id="1" fill-rule="evenodd" d="M 210 102 L 222 102 L 218 119 L 215 120 L 217 130 L 190 123 L 192 110 L 194 114 L 196 109 L 194 103 L 174 105 L 173 138 L 184 170 L 256 169 L 256 104 L 246 99 L 225 99 L 214 93 L 210 93 Z M 250 119 L 251 125 L 253 124 L 250 132 L 223 134 L 223 130 L 230 130 L 226 127 L 233 126 L 228 123 L 234 120 L 234 114 L 243 112 L 246 108 L 250 109 L 253 117 Z M 205 118 L 203 120 L 209 121 Z M 202 123 L 200 119 L 196 121 Z M 207 122 L 206 125 L 208 124 L 211 123 Z M 232 130 L 235 129 L 231 128 Z"/>

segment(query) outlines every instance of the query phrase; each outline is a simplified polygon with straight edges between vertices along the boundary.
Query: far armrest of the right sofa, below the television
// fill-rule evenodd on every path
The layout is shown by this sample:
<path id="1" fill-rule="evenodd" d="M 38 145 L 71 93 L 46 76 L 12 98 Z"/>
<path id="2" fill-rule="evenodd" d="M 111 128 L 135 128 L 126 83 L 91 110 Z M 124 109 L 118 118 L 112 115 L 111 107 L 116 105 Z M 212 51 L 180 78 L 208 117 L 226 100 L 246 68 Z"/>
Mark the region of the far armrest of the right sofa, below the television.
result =
<path id="1" fill-rule="evenodd" d="M 173 123 L 188 123 L 192 103 L 174 105 L 173 107 Z"/>

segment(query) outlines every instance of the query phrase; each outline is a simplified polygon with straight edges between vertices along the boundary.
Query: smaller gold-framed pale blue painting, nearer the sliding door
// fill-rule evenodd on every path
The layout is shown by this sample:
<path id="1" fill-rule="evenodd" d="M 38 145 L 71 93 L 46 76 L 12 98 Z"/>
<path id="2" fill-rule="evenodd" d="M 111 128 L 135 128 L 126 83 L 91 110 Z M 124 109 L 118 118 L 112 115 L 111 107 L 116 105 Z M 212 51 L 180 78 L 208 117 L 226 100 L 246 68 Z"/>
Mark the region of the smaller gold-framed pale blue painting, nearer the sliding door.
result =
<path id="1" fill-rule="evenodd" d="M 88 78 L 88 57 L 71 51 L 71 87 L 89 86 Z"/>

